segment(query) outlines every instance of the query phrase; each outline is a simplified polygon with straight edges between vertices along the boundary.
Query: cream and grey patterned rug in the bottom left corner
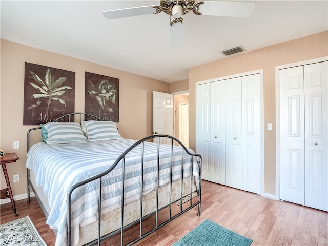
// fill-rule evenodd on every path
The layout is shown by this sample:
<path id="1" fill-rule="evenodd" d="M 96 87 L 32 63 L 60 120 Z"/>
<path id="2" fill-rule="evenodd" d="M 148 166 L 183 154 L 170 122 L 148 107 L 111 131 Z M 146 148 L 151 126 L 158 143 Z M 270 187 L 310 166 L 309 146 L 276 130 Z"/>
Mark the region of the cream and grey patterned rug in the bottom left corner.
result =
<path id="1" fill-rule="evenodd" d="M 29 216 L 0 224 L 0 245 L 46 246 Z"/>

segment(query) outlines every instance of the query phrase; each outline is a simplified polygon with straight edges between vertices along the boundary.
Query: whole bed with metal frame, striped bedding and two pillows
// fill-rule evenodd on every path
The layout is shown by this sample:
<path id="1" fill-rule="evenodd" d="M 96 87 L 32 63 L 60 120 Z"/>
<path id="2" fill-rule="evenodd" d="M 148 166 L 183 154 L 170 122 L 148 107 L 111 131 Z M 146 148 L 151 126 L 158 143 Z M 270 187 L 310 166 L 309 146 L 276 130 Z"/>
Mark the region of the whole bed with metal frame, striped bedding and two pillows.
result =
<path id="1" fill-rule="evenodd" d="M 196 206 L 200 215 L 201 156 L 174 137 L 124 139 L 115 122 L 71 113 L 27 138 L 28 202 L 31 187 L 56 245 L 131 245 Z"/>

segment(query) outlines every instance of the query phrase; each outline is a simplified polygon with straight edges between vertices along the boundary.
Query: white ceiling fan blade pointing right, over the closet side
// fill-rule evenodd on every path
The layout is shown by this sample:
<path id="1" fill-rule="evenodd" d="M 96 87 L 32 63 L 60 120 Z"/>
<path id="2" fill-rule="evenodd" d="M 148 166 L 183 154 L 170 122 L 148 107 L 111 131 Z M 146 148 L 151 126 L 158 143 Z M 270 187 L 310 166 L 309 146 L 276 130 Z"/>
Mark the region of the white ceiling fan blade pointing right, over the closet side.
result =
<path id="1" fill-rule="evenodd" d="M 204 1 L 199 5 L 199 13 L 202 15 L 249 17 L 255 10 L 255 3 Z"/>

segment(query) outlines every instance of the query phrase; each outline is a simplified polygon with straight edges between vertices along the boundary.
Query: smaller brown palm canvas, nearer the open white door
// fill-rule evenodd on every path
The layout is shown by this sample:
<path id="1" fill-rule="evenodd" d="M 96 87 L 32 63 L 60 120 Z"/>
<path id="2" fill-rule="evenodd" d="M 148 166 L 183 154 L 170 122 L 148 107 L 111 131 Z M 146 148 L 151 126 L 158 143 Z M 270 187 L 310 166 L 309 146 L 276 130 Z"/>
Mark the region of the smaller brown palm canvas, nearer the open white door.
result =
<path id="1" fill-rule="evenodd" d="M 118 122 L 119 79 L 86 72 L 85 112 Z"/>

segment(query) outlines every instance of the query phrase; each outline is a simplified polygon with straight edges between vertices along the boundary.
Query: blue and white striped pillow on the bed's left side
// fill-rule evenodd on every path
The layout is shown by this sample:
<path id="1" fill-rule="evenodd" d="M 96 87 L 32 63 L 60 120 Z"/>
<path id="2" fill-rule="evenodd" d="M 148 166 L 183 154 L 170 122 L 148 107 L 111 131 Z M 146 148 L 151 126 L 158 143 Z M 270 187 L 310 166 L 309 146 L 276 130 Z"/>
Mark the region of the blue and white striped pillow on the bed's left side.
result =
<path id="1" fill-rule="evenodd" d="M 66 144 L 74 142 L 87 142 L 81 126 L 77 122 L 48 122 L 43 125 L 48 132 L 47 144 Z"/>

